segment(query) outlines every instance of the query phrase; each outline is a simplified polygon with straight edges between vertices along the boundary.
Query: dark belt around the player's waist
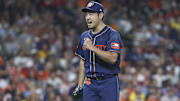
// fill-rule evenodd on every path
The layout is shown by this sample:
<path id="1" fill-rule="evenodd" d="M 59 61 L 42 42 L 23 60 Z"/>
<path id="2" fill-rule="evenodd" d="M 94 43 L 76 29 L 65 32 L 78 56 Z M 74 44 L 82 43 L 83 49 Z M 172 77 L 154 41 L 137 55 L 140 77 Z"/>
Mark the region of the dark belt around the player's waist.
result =
<path id="1" fill-rule="evenodd" d="M 96 76 L 95 76 L 96 75 Z M 92 75 L 86 75 L 87 79 L 93 79 L 93 80 L 104 80 L 108 78 L 112 78 L 114 76 L 117 76 L 118 74 L 92 74 Z"/>

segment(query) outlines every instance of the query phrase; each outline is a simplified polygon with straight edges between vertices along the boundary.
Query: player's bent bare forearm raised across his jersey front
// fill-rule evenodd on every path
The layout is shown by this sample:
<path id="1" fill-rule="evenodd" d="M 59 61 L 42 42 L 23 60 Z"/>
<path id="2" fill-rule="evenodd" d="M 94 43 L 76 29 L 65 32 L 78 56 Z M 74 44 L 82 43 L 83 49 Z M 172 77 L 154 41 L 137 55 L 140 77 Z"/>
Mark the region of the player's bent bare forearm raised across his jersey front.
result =
<path id="1" fill-rule="evenodd" d="M 99 58 L 101 58 L 102 60 L 104 60 L 107 63 L 114 64 L 117 61 L 117 57 L 118 57 L 117 53 L 111 53 L 109 51 L 103 51 L 103 50 L 100 50 L 96 47 L 93 47 L 92 51 L 96 55 L 98 55 Z"/>

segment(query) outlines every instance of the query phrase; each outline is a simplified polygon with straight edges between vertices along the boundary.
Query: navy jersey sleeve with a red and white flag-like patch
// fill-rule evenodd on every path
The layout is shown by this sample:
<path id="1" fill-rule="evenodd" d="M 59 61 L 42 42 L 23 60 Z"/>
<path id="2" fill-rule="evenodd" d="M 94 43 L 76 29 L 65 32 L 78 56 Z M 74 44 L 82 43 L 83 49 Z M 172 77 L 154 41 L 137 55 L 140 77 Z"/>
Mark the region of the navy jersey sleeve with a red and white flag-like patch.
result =
<path id="1" fill-rule="evenodd" d="M 120 53 L 120 49 L 123 46 L 120 34 L 118 32 L 113 32 L 107 42 L 107 50 L 113 53 Z"/>

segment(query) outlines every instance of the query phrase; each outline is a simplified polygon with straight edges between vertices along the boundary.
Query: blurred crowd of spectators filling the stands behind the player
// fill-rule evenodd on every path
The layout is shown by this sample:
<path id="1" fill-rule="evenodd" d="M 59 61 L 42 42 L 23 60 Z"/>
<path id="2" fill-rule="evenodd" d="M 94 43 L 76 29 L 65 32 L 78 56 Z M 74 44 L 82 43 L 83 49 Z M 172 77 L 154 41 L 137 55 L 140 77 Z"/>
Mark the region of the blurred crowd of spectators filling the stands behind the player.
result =
<path id="1" fill-rule="evenodd" d="M 119 101 L 180 101 L 180 1 L 99 0 L 118 30 Z M 0 101 L 82 101 L 74 55 L 88 0 L 0 0 Z"/>

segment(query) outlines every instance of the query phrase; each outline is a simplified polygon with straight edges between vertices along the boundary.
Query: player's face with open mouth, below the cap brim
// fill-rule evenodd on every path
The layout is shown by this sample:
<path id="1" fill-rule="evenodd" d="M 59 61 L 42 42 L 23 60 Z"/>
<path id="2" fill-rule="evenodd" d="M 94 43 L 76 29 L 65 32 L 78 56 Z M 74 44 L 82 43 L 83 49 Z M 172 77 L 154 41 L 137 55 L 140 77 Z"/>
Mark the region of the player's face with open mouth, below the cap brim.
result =
<path id="1" fill-rule="evenodd" d="M 89 29 L 96 28 L 100 21 L 99 14 L 96 12 L 86 12 L 85 19 Z"/>

